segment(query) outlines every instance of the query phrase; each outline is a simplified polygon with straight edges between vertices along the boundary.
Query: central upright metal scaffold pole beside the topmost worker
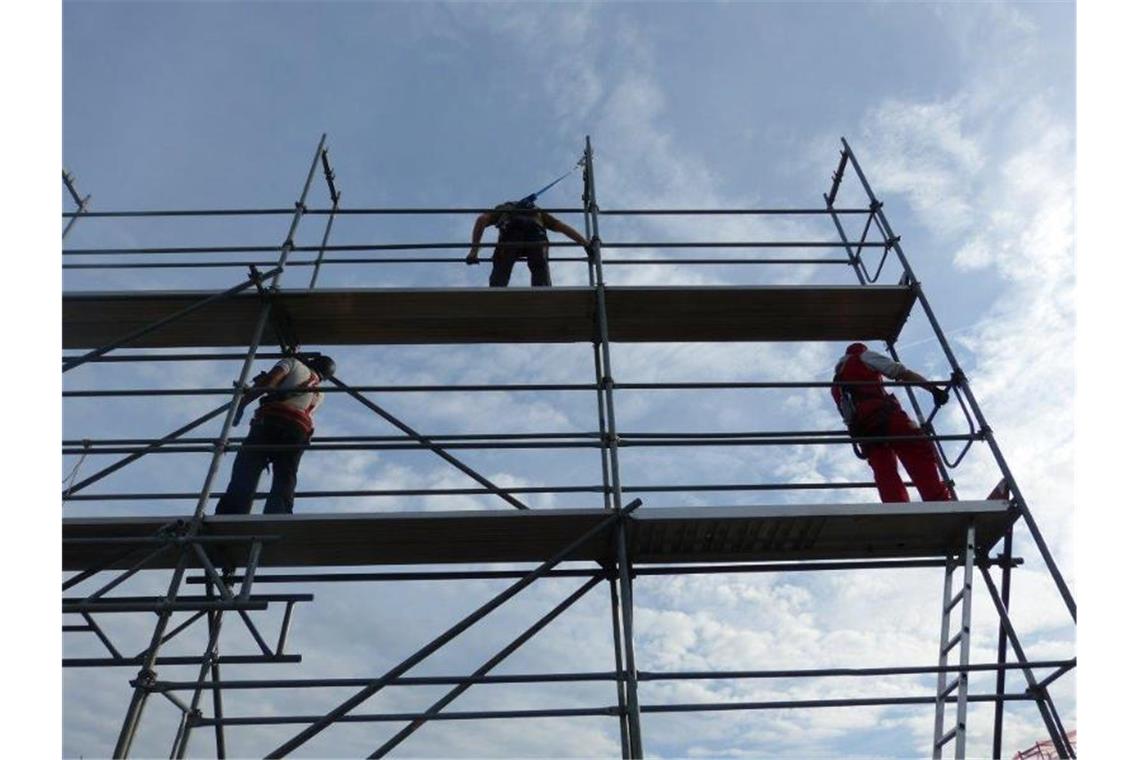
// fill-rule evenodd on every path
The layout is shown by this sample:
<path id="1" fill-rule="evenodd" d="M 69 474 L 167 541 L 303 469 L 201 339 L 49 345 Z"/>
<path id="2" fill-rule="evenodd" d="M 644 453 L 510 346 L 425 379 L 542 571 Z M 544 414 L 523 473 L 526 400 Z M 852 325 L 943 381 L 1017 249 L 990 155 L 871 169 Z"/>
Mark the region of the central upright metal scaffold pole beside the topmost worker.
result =
<path id="1" fill-rule="evenodd" d="M 601 387 L 605 401 L 605 431 L 602 441 L 609 455 L 610 476 L 612 477 L 611 507 L 621 504 L 621 471 L 618 466 L 618 425 L 613 410 L 613 365 L 610 360 L 610 328 L 605 311 L 605 273 L 602 267 L 602 239 L 597 227 L 597 191 L 594 185 L 594 150 L 589 136 L 586 136 L 586 196 L 587 213 L 591 218 L 593 235 L 589 238 L 589 258 L 593 260 L 594 293 L 597 310 L 597 345 L 601 358 Z M 624 645 L 624 663 L 618 662 L 618 669 L 624 675 L 621 689 L 625 694 L 622 716 L 628 724 L 626 730 L 629 739 L 630 758 L 642 757 L 641 711 L 637 703 L 637 667 L 634 659 L 633 637 L 633 583 L 629 569 L 629 557 L 626 550 L 626 521 L 618 523 L 616 533 L 618 559 L 618 594 L 611 593 L 611 605 L 620 603 Z M 616 637 L 617 638 L 617 637 Z M 620 702 L 619 702 L 620 704 Z M 622 735 L 625 741 L 625 735 Z M 622 751 L 625 751 L 625 746 Z"/>

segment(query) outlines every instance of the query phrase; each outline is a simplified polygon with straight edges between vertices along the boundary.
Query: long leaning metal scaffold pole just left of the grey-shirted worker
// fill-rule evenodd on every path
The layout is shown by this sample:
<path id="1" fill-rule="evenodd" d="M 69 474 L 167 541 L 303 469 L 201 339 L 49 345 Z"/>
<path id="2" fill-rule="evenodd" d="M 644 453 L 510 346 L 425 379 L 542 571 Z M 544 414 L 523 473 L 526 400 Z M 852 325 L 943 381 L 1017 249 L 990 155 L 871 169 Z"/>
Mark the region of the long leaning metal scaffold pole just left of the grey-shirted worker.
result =
<path id="1" fill-rule="evenodd" d="M 293 250 L 293 235 L 296 232 L 298 224 L 301 222 L 301 216 L 304 215 L 304 201 L 309 195 L 309 187 L 312 185 L 312 177 L 317 171 L 317 162 L 320 158 L 320 152 L 325 147 L 325 134 L 320 136 L 320 142 L 317 146 L 317 152 L 314 154 L 312 163 L 309 165 L 309 174 L 304 180 L 304 188 L 301 190 L 301 198 L 294 206 L 293 219 L 290 223 L 288 235 L 282 244 L 280 255 L 277 260 L 278 271 L 274 275 L 271 287 L 277 286 L 282 275 L 280 270 L 285 268 L 288 254 Z M 202 517 L 205 514 L 206 505 L 210 502 L 210 490 L 213 487 L 213 481 L 218 474 L 221 458 L 226 451 L 226 443 L 228 442 L 229 434 L 234 427 L 234 417 L 237 415 L 237 404 L 242 399 L 243 389 L 249 381 L 250 371 L 253 367 L 254 356 L 258 352 L 258 346 L 261 345 L 261 336 L 269 321 L 269 309 L 270 304 L 267 302 L 261 307 L 261 311 L 258 314 L 258 321 L 253 328 L 253 335 L 250 340 L 250 348 L 245 353 L 244 361 L 242 362 L 242 371 L 235 383 L 234 395 L 230 399 L 229 409 L 226 412 L 226 420 L 222 423 L 221 433 L 214 443 L 214 450 L 210 458 L 210 468 L 206 472 L 205 482 L 203 482 L 202 490 L 198 492 L 198 500 L 194 509 L 194 517 L 186 534 L 187 539 L 193 540 L 198 530 L 201 530 Z M 178 589 L 181 587 L 182 578 L 186 574 L 189 554 L 190 545 L 186 544 L 182 550 L 182 556 L 179 558 L 170 580 L 170 587 L 166 593 L 168 600 L 173 600 L 173 598 L 178 595 Z M 171 615 L 172 612 L 169 608 L 158 614 L 158 621 L 154 627 L 154 635 L 150 637 L 150 644 L 147 646 L 146 654 L 142 657 L 142 668 L 139 670 L 138 684 L 131 695 L 131 702 L 127 708 L 127 716 L 123 718 L 123 726 L 119 733 L 119 739 L 115 742 L 115 758 L 125 758 L 130 753 L 131 744 L 133 743 L 135 735 L 138 732 L 139 720 L 142 718 L 142 709 L 146 706 L 147 697 L 150 695 L 149 684 L 154 679 L 154 667 L 158 659 L 158 648 L 162 645 L 163 634 L 166 630 L 166 626 L 170 623 Z"/>

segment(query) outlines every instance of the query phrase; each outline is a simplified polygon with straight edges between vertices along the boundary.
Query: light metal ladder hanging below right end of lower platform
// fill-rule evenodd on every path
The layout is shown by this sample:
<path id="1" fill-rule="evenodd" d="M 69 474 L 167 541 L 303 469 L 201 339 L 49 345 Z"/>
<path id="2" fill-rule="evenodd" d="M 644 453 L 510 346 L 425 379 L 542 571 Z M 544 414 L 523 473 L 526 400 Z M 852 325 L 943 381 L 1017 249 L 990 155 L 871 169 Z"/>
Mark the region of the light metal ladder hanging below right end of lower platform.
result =
<path id="1" fill-rule="evenodd" d="M 942 593 L 942 640 L 938 644 L 938 690 L 935 697 L 934 713 L 934 752 L 935 760 L 940 760 L 943 747 L 954 741 L 954 758 L 966 758 L 966 708 L 969 698 L 967 667 L 970 664 L 970 597 L 974 591 L 975 528 L 972 521 L 966 529 L 966 546 L 960 558 L 946 557 L 946 574 Z M 954 594 L 954 571 L 962 565 L 962 587 Z M 961 607 L 959 629 L 953 637 L 950 635 L 951 620 L 954 611 Z M 954 679 L 947 683 L 951 675 L 946 668 L 950 654 L 958 649 L 959 670 Z M 946 705 L 953 700 L 958 712 L 954 726 L 946 730 Z"/>

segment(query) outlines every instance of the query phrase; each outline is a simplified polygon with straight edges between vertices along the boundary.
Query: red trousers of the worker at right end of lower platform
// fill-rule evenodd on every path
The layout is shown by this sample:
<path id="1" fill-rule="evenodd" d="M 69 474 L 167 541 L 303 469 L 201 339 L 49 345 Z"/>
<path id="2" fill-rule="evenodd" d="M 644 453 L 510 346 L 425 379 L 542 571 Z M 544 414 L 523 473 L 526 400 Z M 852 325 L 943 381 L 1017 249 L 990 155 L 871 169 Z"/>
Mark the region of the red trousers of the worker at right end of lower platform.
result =
<path id="1" fill-rule="evenodd" d="M 922 431 L 906 412 L 896 409 L 887 417 L 886 430 L 872 435 L 921 435 Z M 911 476 L 923 501 L 950 501 L 953 497 L 938 474 L 938 452 L 929 439 L 913 441 L 888 441 L 885 443 L 862 443 L 866 463 L 874 473 L 874 484 L 883 501 L 910 501 L 903 479 L 898 476 L 902 460 L 906 474 Z"/>

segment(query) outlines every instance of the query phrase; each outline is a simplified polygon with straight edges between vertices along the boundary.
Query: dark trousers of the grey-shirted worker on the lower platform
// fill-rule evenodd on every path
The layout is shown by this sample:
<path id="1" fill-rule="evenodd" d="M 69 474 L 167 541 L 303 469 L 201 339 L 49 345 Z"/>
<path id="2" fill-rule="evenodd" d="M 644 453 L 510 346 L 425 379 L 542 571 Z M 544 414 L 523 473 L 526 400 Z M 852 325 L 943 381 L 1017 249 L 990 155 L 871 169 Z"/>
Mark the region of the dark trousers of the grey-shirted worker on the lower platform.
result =
<path id="1" fill-rule="evenodd" d="M 264 415 L 254 417 L 250 433 L 234 459 L 226 493 L 218 500 L 217 515 L 247 515 L 253 507 L 261 472 L 272 467 L 274 480 L 266 499 L 267 515 L 293 513 L 293 491 L 296 489 L 296 466 L 309 444 L 310 434 L 296 423 Z M 295 449 L 251 449 L 251 446 L 296 446 Z"/>

